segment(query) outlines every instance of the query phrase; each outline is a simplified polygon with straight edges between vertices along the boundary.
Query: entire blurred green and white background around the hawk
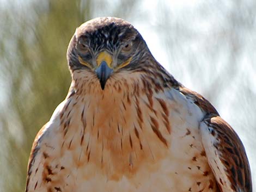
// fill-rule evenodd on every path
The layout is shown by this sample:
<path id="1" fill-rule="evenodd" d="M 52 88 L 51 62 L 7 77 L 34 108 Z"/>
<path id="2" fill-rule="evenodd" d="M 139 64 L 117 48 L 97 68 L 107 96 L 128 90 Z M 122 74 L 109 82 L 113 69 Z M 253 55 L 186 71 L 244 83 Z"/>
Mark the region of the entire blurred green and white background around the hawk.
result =
<path id="1" fill-rule="evenodd" d="M 0 0 L 0 191 L 24 191 L 29 152 L 71 82 L 77 26 L 115 16 L 155 58 L 204 95 L 239 134 L 256 188 L 256 1 Z"/>

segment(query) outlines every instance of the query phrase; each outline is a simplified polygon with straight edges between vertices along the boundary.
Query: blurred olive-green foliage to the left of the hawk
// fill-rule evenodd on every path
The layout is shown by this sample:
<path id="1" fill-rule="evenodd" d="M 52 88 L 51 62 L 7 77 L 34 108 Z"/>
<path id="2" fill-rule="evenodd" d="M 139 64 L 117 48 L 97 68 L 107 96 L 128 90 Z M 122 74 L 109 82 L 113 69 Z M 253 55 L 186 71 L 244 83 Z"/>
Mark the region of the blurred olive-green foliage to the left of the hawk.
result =
<path id="1" fill-rule="evenodd" d="M 11 34 L 16 42 L 11 57 L 5 58 L 10 92 L 9 110 L 18 118 L 21 141 L 17 141 L 10 129 L 10 119 L 6 115 L 3 134 L 8 139 L 6 166 L 2 172 L 3 191 L 23 191 L 32 141 L 51 116 L 54 108 L 65 98 L 70 84 L 70 74 L 66 65 L 66 47 L 75 28 L 84 18 L 90 18 L 88 7 L 80 8 L 80 2 L 49 1 L 31 3 L 17 15 L 7 13 L 5 33 Z M 9 10 L 6 10 L 9 11 Z M 36 11 L 36 12 L 35 12 Z M 16 20 L 16 22 L 11 21 Z M 8 22 L 13 22 L 10 27 Z M 1 47 L 5 48 L 4 45 Z M 5 51 L 4 49 L 1 51 Z M 9 50 L 6 50 L 9 51 Z M 18 133 L 19 134 L 19 133 Z"/>

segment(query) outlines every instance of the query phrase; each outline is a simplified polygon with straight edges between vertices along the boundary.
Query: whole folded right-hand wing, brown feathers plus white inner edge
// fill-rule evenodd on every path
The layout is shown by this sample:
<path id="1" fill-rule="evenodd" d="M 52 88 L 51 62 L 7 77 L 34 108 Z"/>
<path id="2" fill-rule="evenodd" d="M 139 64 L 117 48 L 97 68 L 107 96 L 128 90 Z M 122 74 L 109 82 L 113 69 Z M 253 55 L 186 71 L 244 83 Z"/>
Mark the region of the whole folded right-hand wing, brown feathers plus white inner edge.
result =
<path id="1" fill-rule="evenodd" d="M 216 181 L 223 192 L 252 192 L 245 148 L 233 128 L 220 116 L 206 115 L 200 123 L 203 146 Z"/>

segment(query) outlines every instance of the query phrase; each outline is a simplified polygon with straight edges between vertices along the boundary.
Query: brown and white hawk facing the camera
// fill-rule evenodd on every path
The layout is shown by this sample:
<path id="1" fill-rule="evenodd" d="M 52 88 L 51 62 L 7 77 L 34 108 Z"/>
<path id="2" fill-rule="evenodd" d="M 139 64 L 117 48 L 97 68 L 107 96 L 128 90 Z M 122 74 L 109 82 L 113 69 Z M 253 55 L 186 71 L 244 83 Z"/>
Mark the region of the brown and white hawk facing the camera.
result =
<path id="1" fill-rule="evenodd" d="M 34 140 L 27 192 L 252 192 L 237 134 L 129 22 L 83 23 L 67 59 L 70 90 Z"/>

